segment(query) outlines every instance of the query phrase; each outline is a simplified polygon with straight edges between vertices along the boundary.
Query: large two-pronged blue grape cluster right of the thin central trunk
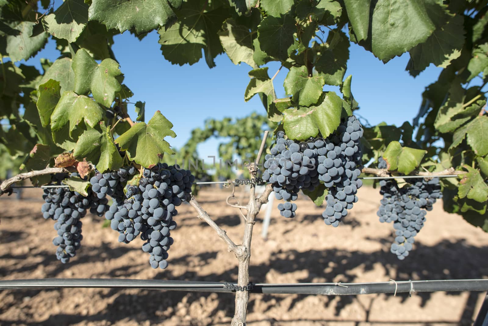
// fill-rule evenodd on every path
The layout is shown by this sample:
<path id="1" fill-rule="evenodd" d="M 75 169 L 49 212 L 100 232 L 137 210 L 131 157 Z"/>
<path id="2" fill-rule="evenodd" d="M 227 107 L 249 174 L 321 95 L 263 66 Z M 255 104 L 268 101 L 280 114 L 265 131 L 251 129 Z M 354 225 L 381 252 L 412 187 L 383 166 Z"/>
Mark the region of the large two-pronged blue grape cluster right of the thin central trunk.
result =
<path id="1" fill-rule="evenodd" d="M 300 189 L 313 191 L 324 183 L 329 193 L 322 216 L 325 224 L 338 226 L 347 209 L 358 201 L 356 193 L 363 184 L 358 179 L 362 136 L 361 123 L 354 116 L 344 119 L 327 138 L 295 143 L 285 140 L 285 133 L 279 131 L 276 144 L 265 156 L 263 180 L 271 183 L 276 198 L 285 202 L 294 201 Z M 278 206 L 281 215 L 294 217 L 296 205 L 285 208 L 285 204 Z"/>

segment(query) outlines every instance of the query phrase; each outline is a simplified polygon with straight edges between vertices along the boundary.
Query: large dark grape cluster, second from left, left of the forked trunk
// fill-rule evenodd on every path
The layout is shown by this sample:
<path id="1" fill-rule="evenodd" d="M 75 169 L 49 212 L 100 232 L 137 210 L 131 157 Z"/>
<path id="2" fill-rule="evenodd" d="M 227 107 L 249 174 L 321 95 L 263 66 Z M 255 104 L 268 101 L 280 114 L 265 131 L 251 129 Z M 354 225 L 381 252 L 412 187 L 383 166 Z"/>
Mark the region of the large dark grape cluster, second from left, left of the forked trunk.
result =
<path id="1" fill-rule="evenodd" d="M 150 265 L 164 269 L 168 265 L 167 251 L 173 244 L 170 231 L 177 226 L 173 221 L 178 214 L 176 207 L 186 201 L 195 177 L 178 165 L 159 163 L 142 171 L 139 184 L 127 183 L 122 187 L 122 183 L 137 172 L 133 167 L 124 167 L 96 174 L 91 182 L 98 190 L 97 195 L 109 194 L 113 198 L 105 218 L 111 221 L 111 228 L 120 233 L 119 241 L 129 243 L 140 236 L 145 241 L 142 250 L 150 254 Z M 106 184 L 102 181 L 105 178 L 109 181 Z M 104 184 L 97 187 L 100 181 Z"/>

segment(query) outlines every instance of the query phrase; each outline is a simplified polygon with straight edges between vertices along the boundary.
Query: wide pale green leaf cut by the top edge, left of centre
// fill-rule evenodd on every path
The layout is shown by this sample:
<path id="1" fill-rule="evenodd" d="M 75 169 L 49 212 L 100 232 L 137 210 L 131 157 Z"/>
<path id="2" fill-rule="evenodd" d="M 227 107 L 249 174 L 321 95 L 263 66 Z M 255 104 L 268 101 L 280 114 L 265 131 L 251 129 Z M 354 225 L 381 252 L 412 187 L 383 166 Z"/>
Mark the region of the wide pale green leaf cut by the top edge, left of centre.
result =
<path id="1" fill-rule="evenodd" d="M 107 29 L 121 33 L 134 29 L 136 33 L 150 32 L 159 26 L 168 28 L 176 21 L 173 9 L 180 8 L 182 0 L 92 0 L 88 20 L 98 20 Z"/>

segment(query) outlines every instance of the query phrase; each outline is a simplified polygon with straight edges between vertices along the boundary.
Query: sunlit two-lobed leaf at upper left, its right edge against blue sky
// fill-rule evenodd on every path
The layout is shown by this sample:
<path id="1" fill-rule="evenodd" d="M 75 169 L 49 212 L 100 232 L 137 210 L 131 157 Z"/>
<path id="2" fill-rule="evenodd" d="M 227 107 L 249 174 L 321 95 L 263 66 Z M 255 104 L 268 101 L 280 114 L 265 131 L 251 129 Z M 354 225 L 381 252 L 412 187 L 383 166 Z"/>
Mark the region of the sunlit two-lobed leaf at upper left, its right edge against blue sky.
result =
<path id="1" fill-rule="evenodd" d="M 76 52 L 73 59 L 75 71 L 75 92 L 78 94 L 93 94 L 95 101 L 107 107 L 114 102 L 115 93 L 122 86 L 117 80 L 121 76 L 119 63 L 112 59 L 105 59 L 98 64 L 83 49 Z"/>

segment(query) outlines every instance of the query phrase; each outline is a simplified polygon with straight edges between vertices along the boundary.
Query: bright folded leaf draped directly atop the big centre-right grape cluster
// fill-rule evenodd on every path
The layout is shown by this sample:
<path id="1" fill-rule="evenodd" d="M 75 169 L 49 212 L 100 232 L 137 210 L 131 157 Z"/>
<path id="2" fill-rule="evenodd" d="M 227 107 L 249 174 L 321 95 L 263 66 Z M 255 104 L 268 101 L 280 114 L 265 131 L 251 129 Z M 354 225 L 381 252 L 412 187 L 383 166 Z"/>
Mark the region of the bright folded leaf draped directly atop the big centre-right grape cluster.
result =
<path id="1" fill-rule="evenodd" d="M 327 137 L 341 123 L 342 112 L 342 99 L 334 92 L 325 92 L 314 106 L 285 110 L 283 127 L 288 138 L 294 140 L 316 137 L 319 132 Z"/>

